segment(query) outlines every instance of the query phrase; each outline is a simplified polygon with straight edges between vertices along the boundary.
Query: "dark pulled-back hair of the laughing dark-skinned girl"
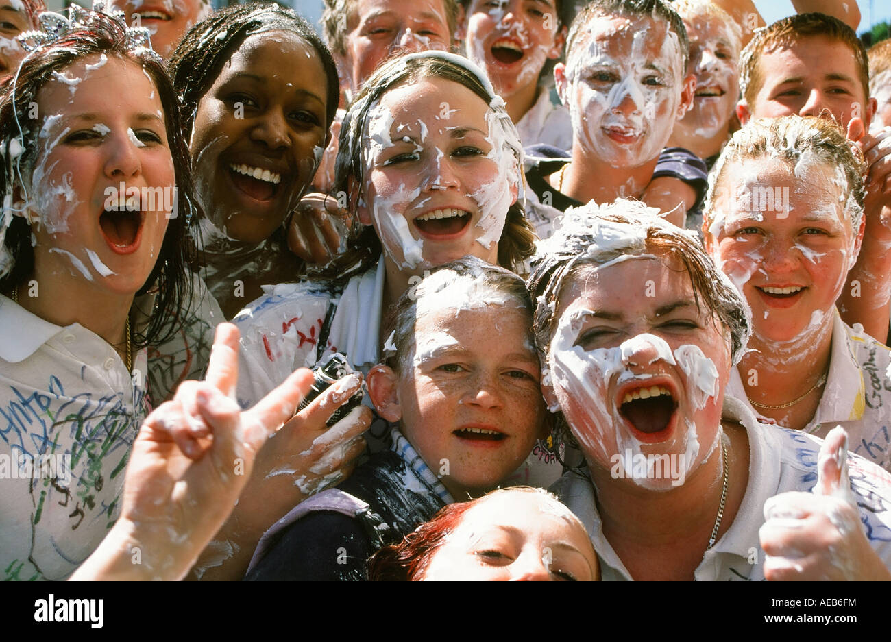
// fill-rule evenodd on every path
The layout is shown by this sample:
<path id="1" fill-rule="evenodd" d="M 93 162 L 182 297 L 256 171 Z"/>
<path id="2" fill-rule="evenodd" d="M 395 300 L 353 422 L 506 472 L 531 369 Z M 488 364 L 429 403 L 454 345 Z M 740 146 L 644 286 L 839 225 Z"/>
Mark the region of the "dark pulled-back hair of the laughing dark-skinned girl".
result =
<path id="1" fill-rule="evenodd" d="M 233 4 L 190 28 L 170 58 L 170 76 L 183 102 L 186 136 L 192 133 L 198 103 L 223 66 L 248 37 L 264 31 L 287 31 L 315 49 L 326 78 L 325 129 L 331 127 L 340 95 L 337 66 L 315 30 L 280 4 Z"/>

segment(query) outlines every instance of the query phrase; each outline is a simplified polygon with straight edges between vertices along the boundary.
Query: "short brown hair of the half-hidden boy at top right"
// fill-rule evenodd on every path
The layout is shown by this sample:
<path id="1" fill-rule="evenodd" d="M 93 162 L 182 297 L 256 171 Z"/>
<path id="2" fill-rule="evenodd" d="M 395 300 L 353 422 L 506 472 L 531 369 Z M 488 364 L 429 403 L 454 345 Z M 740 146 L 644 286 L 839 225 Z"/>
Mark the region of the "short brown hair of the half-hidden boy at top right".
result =
<path id="1" fill-rule="evenodd" d="M 764 86 L 764 69 L 761 69 L 761 55 L 794 45 L 806 37 L 825 36 L 830 40 L 847 45 L 854 54 L 857 75 L 863 87 L 863 95 L 870 97 L 870 67 L 866 59 L 866 49 L 854 29 L 844 22 L 825 13 L 797 13 L 789 18 L 777 20 L 767 27 L 756 29 L 740 55 L 740 91 L 748 102 L 749 109 L 755 105 L 758 92 Z M 863 105 L 865 109 L 865 105 Z"/>

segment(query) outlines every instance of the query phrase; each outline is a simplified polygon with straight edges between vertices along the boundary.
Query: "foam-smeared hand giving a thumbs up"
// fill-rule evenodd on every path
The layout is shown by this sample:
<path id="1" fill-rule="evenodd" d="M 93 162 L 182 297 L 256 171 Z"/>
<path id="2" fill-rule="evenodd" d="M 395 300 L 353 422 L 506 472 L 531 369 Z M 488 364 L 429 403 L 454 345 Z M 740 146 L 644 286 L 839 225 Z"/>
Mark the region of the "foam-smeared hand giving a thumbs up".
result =
<path id="1" fill-rule="evenodd" d="M 767 580 L 889 580 L 870 546 L 847 476 L 847 433 L 835 427 L 817 459 L 813 492 L 764 502 L 759 531 Z"/>

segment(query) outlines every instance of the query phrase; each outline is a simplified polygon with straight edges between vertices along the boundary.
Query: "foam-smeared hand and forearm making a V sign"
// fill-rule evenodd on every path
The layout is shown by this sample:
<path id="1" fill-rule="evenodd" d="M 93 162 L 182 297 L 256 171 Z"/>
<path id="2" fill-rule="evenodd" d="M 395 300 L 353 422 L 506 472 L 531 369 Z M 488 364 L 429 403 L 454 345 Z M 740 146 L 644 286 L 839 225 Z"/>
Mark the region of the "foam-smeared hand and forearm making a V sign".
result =
<path id="1" fill-rule="evenodd" d="M 232 395 L 238 329 L 217 328 L 204 381 L 186 381 L 143 422 L 124 482 L 118 522 L 74 580 L 164 579 L 185 573 L 230 515 L 257 451 L 312 385 L 294 372 L 250 410 Z"/>

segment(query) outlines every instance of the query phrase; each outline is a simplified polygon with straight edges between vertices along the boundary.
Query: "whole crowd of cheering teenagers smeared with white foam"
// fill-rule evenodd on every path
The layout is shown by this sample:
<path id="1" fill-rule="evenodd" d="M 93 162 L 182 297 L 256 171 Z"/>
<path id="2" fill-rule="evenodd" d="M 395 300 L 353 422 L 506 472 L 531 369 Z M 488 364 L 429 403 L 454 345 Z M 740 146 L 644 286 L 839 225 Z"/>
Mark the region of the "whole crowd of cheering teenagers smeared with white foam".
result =
<path id="1" fill-rule="evenodd" d="M 325 3 L 0 0 L 0 577 L 891 579 L 891 39 Z"/>

